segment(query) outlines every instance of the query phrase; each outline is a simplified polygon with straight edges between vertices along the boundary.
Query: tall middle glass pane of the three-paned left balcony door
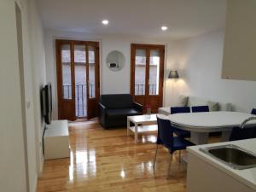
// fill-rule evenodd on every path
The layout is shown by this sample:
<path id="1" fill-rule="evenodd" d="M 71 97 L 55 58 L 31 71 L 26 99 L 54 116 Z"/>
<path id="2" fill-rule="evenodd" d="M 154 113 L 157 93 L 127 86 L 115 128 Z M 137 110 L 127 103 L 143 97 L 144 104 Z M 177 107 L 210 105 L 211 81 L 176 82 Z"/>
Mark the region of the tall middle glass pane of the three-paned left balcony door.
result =
<path id="1" fill-rule="evenodd" d="M 87 115 L 86 102 L 86 52 L 84 44 L 74 45 L 75 103 L 76 116 Z"/>

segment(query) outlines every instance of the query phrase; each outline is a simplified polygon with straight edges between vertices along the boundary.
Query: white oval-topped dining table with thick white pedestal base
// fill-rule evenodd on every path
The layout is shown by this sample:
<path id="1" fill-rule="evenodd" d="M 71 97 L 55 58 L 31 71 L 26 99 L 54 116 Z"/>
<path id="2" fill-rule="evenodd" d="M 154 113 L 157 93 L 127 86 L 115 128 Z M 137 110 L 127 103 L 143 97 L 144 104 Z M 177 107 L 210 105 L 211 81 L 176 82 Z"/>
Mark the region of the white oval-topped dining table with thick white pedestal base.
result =
<path id="1" fill-rule="evenodd" d="M 179 129 L 191 131 L 190 141 L 195 144 L 206 144 L 209 132 L 222 132 L 222 142 L 230 138 L 233 127 L 241 125 L 245 119 L 255 116 L 241 112 L 202 112 L 202 113 L 175 113 L 170 114 L 171 124 Z M 256 120 L 248 122 L 256 125 Z"/>

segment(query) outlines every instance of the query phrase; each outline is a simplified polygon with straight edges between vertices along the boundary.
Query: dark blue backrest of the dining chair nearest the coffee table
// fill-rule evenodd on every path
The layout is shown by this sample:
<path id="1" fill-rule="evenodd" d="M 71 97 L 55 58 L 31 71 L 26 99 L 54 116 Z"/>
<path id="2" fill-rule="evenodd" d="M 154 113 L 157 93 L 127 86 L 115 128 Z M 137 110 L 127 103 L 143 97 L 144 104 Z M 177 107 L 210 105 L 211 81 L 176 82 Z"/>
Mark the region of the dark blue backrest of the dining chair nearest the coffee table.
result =
<path id="1" fill-rule="evenodd" d="M 158 125 L 157 143 L 163 144 L 166 148 L 171 150 L 173 146 L 173 128 L 171 121 L 169 119 L 161 119 L 158 116 L 156 118 Z"/>

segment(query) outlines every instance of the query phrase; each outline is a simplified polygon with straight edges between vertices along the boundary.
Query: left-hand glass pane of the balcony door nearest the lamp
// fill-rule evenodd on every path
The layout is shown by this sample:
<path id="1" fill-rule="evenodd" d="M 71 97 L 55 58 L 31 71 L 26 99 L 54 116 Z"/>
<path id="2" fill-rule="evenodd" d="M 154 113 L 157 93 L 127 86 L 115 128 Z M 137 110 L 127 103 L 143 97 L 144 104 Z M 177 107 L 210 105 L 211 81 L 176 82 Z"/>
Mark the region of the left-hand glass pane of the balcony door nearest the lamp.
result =
<path id="1" fill-rule="evenodd" d="M 134 94 L 145 95 L 146 90 L 146 49 L 136 49 Z"/>

